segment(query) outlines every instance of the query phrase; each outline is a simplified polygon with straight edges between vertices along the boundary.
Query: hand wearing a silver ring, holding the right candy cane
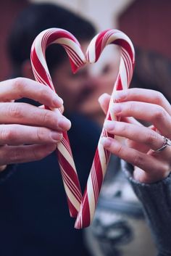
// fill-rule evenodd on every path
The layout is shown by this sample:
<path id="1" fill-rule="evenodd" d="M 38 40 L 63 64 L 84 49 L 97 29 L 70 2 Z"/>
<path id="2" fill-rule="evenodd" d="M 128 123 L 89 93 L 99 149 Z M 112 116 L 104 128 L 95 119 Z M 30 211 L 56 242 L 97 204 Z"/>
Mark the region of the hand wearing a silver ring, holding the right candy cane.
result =
<path id="1" fill-rule="evenodd" d="M 107 112 L 109 95 L 104 94 L 99 102 L 104 112 Z M 117 91 L 112 111 L 121 122 L 106 121 L 104 128 L 109 133 L 125 137 L 125 144 L 116 139 L 102 139 L 101 143 L 106 149 L 123 160 L 134 165 L 133 176 L 135 180 L 151 183 L 161 180 L 169 175 L 171 170 L 171 146 L 162 152 L 159 149 L 166 136 L 171 139 L 171 106 L 164 96 L 148 89 L 130 88 Z M 148 122 L 157 128 L 153 131 L 137 120 Z M 152 149 L 152 150 L 151 150 Z"/>

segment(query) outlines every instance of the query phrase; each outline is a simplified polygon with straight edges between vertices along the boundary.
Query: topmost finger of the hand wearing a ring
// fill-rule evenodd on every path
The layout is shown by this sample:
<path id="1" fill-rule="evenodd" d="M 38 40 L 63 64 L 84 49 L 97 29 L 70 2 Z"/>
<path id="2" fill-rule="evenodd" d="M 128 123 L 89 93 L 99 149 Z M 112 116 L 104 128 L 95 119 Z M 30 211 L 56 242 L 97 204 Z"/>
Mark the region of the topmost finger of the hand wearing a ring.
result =
<path id="1" fill-rule="evenodd" d="M 118 102 L 147 102 L 157 104 L 171 115 L 171 106 L 164 95 L 159 91 L 143 88 L 130 88 L 128 90 L 116 91 L 114 99 Z"/>

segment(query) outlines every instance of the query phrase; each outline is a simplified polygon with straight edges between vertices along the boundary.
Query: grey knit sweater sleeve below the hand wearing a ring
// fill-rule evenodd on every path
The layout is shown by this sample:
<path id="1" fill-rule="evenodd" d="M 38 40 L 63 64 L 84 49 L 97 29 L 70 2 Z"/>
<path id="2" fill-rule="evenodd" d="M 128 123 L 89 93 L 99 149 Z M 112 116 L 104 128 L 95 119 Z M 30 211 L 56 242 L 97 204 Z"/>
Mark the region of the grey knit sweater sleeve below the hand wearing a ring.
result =
<path id="1" fill-rule="evenodd" d="M 157 183 L 133 179 L 133 166 L 122 161 L 122 170 L 143 205 L 147 223 L 159 250 L 158 256 L 171 255 L 171 174 Z"/>

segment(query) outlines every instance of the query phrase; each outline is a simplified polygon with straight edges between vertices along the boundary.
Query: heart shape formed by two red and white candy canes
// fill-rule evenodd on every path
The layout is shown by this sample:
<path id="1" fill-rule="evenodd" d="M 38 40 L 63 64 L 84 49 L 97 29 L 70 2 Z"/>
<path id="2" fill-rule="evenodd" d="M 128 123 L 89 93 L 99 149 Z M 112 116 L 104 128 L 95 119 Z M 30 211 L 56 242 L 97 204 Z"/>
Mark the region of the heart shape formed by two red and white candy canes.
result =
<path id="1" fill-rule="evenodd" d="M 67 30 L 50 28 L 42 31 L 33 42 L 30 54 L 31 64 L 36 80 L 49 86 L 55 91 L 45 57 L 46 48 L 50 44 L 60 44 L 64 47 L 69 56 L 73 73 L 83 65 L 86 65 L 86 63 L 96 62 L 105 46 L 116 44 L 121 47 L 120 69 L 114 83 L 106 117 L 106 120 L 116 120 L 117 117 L 115 117 L 111 111 L 114 93 L 117 90 L 128 88 L 133 76 L 135 51 L 130 38 L 120 30 L 104 30 L 92 39 L 85 56 L 80 48 L 78 40 Z M 64 189 L 67 195 L 70 216 L 77 218 L 75 221 L 75 228 L 85 228 L 89 226 L 93 220 L 101 185 L 104 181 L 110 157 L 110 153 L 104 149 L 100 143 L 101 137 L 104 136 L 113 137 L 113 135 L 107 133 L 104 128 L 102 129 L 83 195 L 80 189 L 80 182 L 75 168 L 75 162 L 72 157 L 67 132 L 63 132 L 63 139 L 57 144 L 57 157 L 62 173 Z"/>

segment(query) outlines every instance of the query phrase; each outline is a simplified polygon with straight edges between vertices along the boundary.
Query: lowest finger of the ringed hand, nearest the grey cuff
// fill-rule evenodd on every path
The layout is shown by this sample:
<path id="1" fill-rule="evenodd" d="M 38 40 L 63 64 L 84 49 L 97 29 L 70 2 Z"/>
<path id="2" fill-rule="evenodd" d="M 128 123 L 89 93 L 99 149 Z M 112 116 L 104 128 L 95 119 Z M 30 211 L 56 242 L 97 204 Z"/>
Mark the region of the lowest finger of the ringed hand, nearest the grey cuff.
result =
<path id="1" fill-rule="evenodd" d="M 122 145 L 119 141 L 112 138 L 102 138 L 101 144 L 112 154 L 117 155 L 122 160 L 130 162 L 130 164 L 141 168 L 151 178 L 160 179 L 165 173 L 170 172 L 170 166 L 164 165 L 161 160 L 157 160 L 149 154 L 138 152 Z"/>

